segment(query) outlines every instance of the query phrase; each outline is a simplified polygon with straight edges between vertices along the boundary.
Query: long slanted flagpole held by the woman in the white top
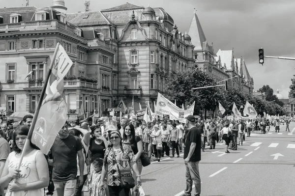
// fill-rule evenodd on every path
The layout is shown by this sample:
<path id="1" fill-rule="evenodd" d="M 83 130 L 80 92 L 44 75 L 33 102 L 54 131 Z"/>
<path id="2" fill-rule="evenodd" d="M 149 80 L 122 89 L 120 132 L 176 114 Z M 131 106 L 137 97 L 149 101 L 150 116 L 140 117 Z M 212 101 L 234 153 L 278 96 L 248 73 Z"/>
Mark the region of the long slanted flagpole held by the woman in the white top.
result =
<path id="1" fill-rule="evenodd" d="M 19 162 L 19 165 L 17 167 L 18 170 L 21 168 L 21 165 L 22 165 L 26 150 L 29 147 L 29 143 L 30 143 L 30 140 L 31 140 L 31 137 L 32 137 L 32 134 L 33 134 L 33 130 L 35 128 L 35 124 L 37 122 L 37 117 L 39 115 L 39 111 L 40 111 L 40 108 L 42 106 L 42 101 L 43 101 L 43 98 L 44 98 L 44 94 L 46 92 L 47 84 L 48 84 L 48 81 L 49 81 L 49 78 L 50 78 L 50 75 L 51 75 L 51 72 L 52 72 L 52 68 L 53 68 L 53 65 L 55 63 L 55 59 L 56 59 L 57 54 L 58 54 L 58 51 L 59 51 L 59 43 L 57 44 L 57 47 L 56 47 L 56 49 L 54 51 L 53 58 L 52 58 L 52 61 L 50 63 L 50 67 L 49 67 L 49 70 L 48 70 L 48 73 L 47 73 L 47 78 L 46 78 L 46 80 L 44 82 L 44 86 L 43 86 L 43 89 L 41 91 L 38 106 L 37 106 L 37 109 L 35 111 L 32 123 L 31 123 L 31 125 L 29 127 L 29 133 L 28 133 L 28 136 L 27 136 L 27 140 L 25 142 L 24 149 L 23 149 L 21 157 L 20 157 L 20 162 Z M 15 182 L 16 182 L 16 178 L 13 179 L 12 183 L 15 183 Z M 11 196 L 11 195 L 12 195 L 12 192 L 9 193 L 9 196 Z"/>

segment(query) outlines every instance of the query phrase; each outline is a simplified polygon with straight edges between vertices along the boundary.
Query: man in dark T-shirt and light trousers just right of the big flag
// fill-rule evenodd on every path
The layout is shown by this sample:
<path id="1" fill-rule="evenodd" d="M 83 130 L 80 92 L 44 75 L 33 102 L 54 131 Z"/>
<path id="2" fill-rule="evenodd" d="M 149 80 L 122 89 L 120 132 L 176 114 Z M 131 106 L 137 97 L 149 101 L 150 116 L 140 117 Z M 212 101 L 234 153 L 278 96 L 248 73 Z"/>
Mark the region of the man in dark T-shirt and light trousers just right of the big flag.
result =
<path id="1" fill-rule="evenodd" d="M 78 137 L 69 135 L 68 122 L 59 130 L 52 147 L 52 180 L 58 196 L 73 196 L 77 186 L 83 183 L 83 175 L 77 179 L 77 155 L 80 173 L 84 173 L 83 145 Z"/>

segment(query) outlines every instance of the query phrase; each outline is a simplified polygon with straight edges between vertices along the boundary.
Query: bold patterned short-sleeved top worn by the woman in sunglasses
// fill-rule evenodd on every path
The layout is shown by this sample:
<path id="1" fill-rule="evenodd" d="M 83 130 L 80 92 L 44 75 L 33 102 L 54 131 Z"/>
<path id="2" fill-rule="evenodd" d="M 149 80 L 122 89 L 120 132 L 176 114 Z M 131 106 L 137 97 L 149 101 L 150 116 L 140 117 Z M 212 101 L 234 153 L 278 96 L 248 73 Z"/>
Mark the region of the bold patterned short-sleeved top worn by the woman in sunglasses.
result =
<path id="1" fill-rule="evenodd" d="M 123 151 L 122 151 L 123 150 Z M 115 153 L 115 154 L 114 154 Z M 114 156 L 113 156 L 114 155 Z M 114 160 L 114 157 L 116 160 Z M 120 176 L 118 168 L 120 169 L 121 175 L 131 175 L 130 163 L 135 162 L 134 153 L 130 145 L 122 144 L 122 149 L 114 150 L 110 147 L 106 150 L 105 159 L 107 159 L 108 174 L 107 183 L 109 186 L 120 186 Z M 117 167 L 117 164 L 118 167 Z"/>

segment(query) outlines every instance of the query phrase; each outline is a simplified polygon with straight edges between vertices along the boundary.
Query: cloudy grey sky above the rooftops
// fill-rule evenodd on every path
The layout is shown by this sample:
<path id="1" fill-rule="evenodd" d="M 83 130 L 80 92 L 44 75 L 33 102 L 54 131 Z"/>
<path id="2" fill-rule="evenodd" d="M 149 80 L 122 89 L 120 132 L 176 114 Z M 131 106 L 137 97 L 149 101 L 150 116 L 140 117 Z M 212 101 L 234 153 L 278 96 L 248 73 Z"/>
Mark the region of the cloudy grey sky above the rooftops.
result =
<path id="1" fill-rule="evenodd" d="M 29 0 L 36 7 L 51 6 L 53 0 Z M 73 3 L 75 2 L 75 3 Z M 219 49 L 234 48 L 236 58 L 243 56 L 254 90 L 268 84 L 288 98 L 295 61 L 266 58 L 258 63 L 258 49 L 265 56 L 295 57 L 295 1 L 294 0 L 128 0 L 128 2 L 163 7 L 174 19 L 178 29 L 188 31 L 194 8 L 197 9 L 208 43 Z M 91 11 L 126 3 L 126 0 L 91 0 Z M 22 6 L 25 0 L 0 0 L 1 7 Z M 84 0 L 65 0 L 67 12 L 84 11 Z"/>

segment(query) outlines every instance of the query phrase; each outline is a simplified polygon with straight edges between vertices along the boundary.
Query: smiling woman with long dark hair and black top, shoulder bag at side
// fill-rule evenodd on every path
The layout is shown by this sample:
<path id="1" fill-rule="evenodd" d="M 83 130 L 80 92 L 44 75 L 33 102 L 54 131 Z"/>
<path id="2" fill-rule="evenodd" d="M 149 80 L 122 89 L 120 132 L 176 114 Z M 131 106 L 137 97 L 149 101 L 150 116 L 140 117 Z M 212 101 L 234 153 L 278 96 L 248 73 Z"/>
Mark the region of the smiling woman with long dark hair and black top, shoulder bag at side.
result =
<path id="1" fill-rule="evenodd" d="M 135 136 L 135 129 L 131 123 L 129 123 L 128 125 L 124 127 L 122 143 L 131 146 L 133 154 L 134 154 L 134 159 L 138 167 L 139 175 L 141 175 L 141 172 L 143 170 L 143 164 L 141 162 L 140 156 L 143 153 L 143 142 L 139 136 Z M 134 172 L 132 176 L 134 178 L 134 181 L 136 182 L 137 176 L 135 175 Z M 138 193 L 137 188 L 138 187 L 135 186 L 133 189 L 133 192 Z"/>

